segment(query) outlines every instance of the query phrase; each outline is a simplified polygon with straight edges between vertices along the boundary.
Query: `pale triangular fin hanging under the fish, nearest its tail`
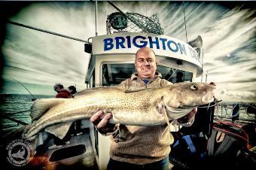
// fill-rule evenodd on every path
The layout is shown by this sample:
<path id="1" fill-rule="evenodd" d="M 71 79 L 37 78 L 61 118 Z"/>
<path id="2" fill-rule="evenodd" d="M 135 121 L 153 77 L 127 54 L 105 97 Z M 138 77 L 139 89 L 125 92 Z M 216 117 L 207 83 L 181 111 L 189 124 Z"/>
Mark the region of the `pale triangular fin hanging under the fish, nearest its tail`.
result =
<path id="1" fill-rule="evenodd" d="M 53 126 L 49 126 L 44 130 L 62 139 L 66 136 L 67 132 L 69 132 L 69 128 L 71 125 L 72 125 L 72 122 L 59 123 Z"/>

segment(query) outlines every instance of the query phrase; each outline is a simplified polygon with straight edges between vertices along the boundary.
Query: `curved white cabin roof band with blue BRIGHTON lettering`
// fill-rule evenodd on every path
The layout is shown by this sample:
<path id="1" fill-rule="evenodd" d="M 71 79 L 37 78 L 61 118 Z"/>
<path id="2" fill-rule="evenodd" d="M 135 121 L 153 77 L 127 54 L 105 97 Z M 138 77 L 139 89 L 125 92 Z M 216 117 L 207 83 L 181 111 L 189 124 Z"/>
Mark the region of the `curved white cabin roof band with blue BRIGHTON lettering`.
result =
<path id="1" fill-rule="evenodd" d="M 182 65 L 184 69 L 193 70 L 196 77 L 203 73 L 202 56 L 197 48 L 177 38 L 145 32 L 117 32 L 95 36 L 92 39 L 92 55 L 86 82 L 95 68 L 97 57 L 111 58 L 111 62 L 134 61 L 137 50 L 142 47 L 154 50 L 157 64 Z"/>

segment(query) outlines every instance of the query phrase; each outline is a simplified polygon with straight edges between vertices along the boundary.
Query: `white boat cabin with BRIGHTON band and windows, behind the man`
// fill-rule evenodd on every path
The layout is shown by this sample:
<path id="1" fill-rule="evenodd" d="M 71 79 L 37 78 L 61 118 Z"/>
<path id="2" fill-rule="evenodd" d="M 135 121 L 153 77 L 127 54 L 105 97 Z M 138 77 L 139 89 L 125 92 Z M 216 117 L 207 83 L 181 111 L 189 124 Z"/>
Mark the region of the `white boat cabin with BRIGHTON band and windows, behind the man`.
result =
<path id="1" fill-rule="evenodd" d="M 150 47 L 157 58 L 157 71 L 172 83 L 192 81 L 203 73 L 202 49 L 165 35 L 145 32 L 117 32 L 92 38 L 92 52 L 85 78 L 87 88 L 115 86 L 135 71 L 136 51 Z M 110 137 L 90 123 L 90 139 L 100 170 L 109 159 Z"/>

